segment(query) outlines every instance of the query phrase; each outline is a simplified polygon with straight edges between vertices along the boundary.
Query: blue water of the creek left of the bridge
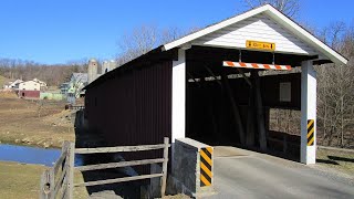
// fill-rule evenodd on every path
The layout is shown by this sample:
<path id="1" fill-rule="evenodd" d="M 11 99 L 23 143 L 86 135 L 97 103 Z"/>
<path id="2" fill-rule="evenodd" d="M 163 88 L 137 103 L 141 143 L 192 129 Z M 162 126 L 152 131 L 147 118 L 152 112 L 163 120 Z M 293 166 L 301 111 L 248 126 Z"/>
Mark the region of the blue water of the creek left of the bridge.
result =
<path id="1" fill-rule="evenodd" d="M 37 164 L 53 166 L 60 157 L 60 149 L 46 149 L 38 147 L 0 145 L 0 160 L 18 161 L 23 164 Z M 82 157 L 75 157 L 75 166 L 82 165 Z"/>

